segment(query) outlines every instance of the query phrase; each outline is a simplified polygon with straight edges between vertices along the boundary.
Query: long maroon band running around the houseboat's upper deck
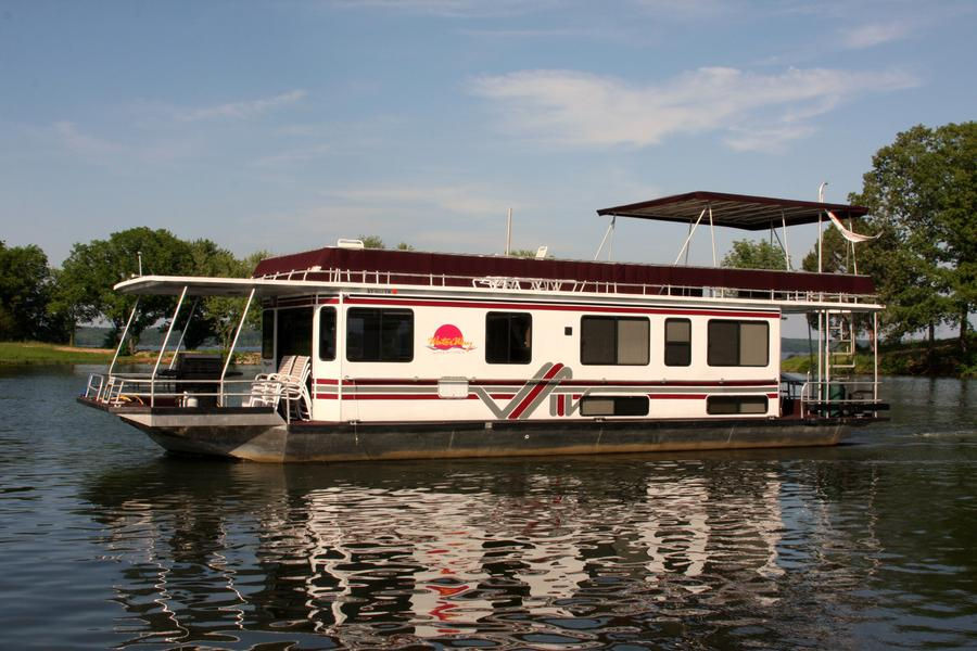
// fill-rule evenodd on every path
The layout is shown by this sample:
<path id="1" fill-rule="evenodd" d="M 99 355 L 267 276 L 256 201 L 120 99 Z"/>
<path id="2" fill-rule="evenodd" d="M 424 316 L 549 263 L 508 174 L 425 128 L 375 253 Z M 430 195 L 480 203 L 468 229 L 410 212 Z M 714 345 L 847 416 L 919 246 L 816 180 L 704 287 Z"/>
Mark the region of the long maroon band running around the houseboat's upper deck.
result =
<path id="1" fill-rule="evenodd" d="M 421 253 L 379 248 L 318 248 L 305 253 L 283 255 L 258 263 L 254 277 L 304 271 L 308 280 L 326 280 L 326 270 L 343 269 L 355 272 L 390 273 L 395 284 L 428 284 L 430 276 L 445 278 L 447 286 L 472 286 L 472 278 L 505 277 L 551 280 L 574 280 L 587 283 L 619 283 L 618 292 L 642 293 L 637 285 L 731 288 L 740 290 L 812 291 L 848 294 L 874 294 L 875 285 L 867 276 L 810 273 L 805 271 L 764 271 L 753 269 L 716 269 L 706 267 L 672 267 L 626 263 L 583 261 L 516 258 L 492 255 Z M 355 280 L 355 278 L 354 278 Z M 385 282 L 381 278 L 380 282 Z M 442 284 L 441 279 L 436 284 Z M 632 285 L 632 286 L 622 286 Z M 591 285 L 584 291 L 597 291 Z M 650 293 L 654 293 L 650 292 Z"/>

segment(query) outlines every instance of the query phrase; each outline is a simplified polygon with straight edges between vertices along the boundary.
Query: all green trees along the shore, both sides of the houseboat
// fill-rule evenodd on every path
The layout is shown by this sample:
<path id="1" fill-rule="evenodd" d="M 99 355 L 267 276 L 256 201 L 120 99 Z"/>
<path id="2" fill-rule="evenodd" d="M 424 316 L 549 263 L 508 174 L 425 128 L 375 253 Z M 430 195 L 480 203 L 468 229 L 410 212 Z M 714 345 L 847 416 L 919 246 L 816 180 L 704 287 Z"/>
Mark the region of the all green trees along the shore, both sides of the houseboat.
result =
<path id="1" fill-rule="evenodd" d="M 966 354 L 968 318 L 977 310 L 977 123 L 919 125 L 899 133 L 875 154 L 862 191 L 850 194 L 849 201 L 870 208 L 854 221 L 854 230 L 878 239 L 859 245 L 855 258 L 841 234 L 828 228 L 823 269 L 873 277 L 886 304 L 883 335 L 898 340 L 923 331 L 931 342 L 938 326 L 953 324 Z M 376 235 L 360 239 L 367 247 L 384 247 Z M 396 247 L 413 250 L 404 242 Z M 531 257 L 535 252 L 513 254 Z M 75 327 L 97 319 L 111 324 L 111 337 L 117 341 L 135 297 L 112 286 L 139 272 L 140 255 L 147 275 L 246 278 L 267 253 L 238 258 L 210 240 L 185 241 L 164 229 L 140 227 L 75 244 L 56 269 L 36 245 L 9 247 L 0 242 L 0 341 L 73 343 Z M 749 241 L 734 242 L 723 265 L 786 268 L 778 248 Z M 817 269 L 816 247 L 802 268 Z M 132 349 L 147 328 L 172 312 L 174 303 L 167 296 L 142 298 L 129 330 Z M 227 345 L 242 305 L 240 298 L 201 301 L 185 344 L 193 348 L 214 337 Z M 252 317 L 257 319 L 257 310 Z"/>

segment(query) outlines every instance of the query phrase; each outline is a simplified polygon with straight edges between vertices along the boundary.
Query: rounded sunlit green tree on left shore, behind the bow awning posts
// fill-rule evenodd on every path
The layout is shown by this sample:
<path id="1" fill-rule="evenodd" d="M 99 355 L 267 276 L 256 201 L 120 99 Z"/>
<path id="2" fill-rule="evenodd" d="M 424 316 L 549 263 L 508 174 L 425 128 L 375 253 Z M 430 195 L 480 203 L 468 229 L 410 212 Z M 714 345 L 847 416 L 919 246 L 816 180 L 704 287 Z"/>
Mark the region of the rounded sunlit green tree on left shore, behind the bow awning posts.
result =
<path id="1" fill-rule="evenodd" d="M 192 272 L 193 256 L 190 244 L 167 230 L 148 227 L 131 228 L 112 233 L 107 240 L 92 240 L 75 244 L 59 276 L 59 305 L 73 305 L 72 319 L 92 320 L 99 316 L 113 326 L 118 339 L 136 297 L 120 294 L 113 288 L 139 271 L 142 255 L 144 275 L 181 276 Z M 129 328 L 129 352 L 134 353 L 139 335 L 175 305 L 172 296 L 143 296 Z"/>

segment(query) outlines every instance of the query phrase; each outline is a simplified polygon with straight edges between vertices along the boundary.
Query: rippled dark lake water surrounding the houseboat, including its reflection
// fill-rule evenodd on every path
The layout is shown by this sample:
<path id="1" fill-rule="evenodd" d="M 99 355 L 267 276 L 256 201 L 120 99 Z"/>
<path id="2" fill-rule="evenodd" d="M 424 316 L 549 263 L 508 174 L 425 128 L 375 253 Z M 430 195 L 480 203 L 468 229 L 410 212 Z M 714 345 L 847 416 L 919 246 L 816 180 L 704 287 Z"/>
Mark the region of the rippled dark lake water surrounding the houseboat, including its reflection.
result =
<path id="1" fill-rule="evenodd" d="M 827 449 L 170 457 L 0 368 L 5 648 L 977 648 L 977 382 Z"/>

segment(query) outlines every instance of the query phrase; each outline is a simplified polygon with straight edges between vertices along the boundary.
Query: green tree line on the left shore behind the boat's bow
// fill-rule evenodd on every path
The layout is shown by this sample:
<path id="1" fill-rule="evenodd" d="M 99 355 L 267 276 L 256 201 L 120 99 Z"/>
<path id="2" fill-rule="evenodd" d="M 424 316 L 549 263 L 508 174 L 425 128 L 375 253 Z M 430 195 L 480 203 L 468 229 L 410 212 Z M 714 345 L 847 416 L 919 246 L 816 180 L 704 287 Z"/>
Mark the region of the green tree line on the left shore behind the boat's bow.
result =
<path id="1" fill-rule="evenodd" d="M 158 276 L 248 278 L 267 253 L 234 256 L 211 240 L 181 240 L 165 229 L 131 228 L 106 240 L 75 244 L 60 268 L 48 264 L 37 245 L 7 246 L 0 242 L 0 341 L 35 340 L 74 344 L 80 323 L 106 321 L 107 344 L 117 342 L 136 302 L 112 288 L 141 271 Z M 176 299 L 143 296 L 129 326 L 129 350 L 142 332 L 168 317 Z M 226 346 L 243 307 L 241 298 L 211 296 L 177 323 L 186 328 L 183 344 L 195 348 L 208 339 Z M 256 314 L 253 318 L 257 318 Z M 189 322 L 189 326 L 188 326 Z M 256 323 L 256 321 L 254 321 Z"/>

